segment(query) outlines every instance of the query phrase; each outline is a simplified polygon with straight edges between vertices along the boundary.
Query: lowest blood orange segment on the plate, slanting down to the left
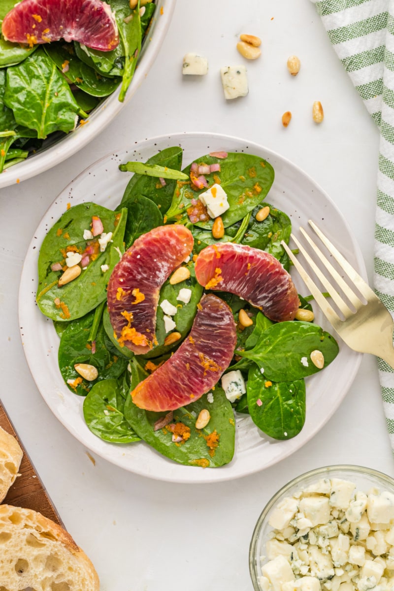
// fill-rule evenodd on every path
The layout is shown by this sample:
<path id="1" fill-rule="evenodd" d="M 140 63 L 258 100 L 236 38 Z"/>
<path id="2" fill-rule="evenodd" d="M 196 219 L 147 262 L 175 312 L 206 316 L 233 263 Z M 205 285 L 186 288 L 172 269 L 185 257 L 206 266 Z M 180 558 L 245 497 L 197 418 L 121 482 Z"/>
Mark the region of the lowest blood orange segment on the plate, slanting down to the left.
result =
<path id="1" fill-rule="evenodd" d="M 195 402 L 230 365 L 236 341 L 230 307 L 213 294 L 203 296 L 189 336 L 170 359 L 133 389 L 133 402 L 156 412 Z"/>

